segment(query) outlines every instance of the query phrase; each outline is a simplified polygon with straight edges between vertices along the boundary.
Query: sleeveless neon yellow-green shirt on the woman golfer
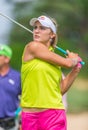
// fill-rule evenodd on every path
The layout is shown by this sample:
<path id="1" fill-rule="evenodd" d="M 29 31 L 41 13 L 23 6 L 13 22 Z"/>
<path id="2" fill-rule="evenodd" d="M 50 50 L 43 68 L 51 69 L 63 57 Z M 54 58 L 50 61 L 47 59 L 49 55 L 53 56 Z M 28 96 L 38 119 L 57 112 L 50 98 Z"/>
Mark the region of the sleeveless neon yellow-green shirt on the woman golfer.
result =
<path id="1" fill-rule="evenodd" d="M 61 68 L 39 59 L 22 62 L 21 107 L 64 109 Z"/>

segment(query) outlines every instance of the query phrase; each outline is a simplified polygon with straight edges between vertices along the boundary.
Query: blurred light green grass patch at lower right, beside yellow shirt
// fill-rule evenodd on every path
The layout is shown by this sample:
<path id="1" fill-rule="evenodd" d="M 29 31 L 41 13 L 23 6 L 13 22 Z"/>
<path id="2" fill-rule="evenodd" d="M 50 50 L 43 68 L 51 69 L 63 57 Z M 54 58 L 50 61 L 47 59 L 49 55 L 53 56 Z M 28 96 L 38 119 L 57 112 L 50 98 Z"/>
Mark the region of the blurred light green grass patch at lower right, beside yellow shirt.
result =
<path id="1" fill-rule="evenodd" d="M 88 89 L 79 89 L 75 86 L 67 95 L 68 112 L 88 111 Z"/>

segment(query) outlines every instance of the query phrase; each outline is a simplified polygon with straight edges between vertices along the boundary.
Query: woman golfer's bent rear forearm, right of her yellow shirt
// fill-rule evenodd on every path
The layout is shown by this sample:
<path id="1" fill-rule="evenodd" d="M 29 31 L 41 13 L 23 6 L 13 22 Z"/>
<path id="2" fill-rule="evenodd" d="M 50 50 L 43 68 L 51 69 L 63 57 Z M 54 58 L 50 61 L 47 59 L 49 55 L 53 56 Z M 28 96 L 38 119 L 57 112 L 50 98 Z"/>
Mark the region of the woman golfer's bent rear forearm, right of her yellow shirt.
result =
<path id="1" fill-rule="evenodd" d="M 69 90 L 72 83 L 74 82 L 74 80 L 78 76 L 81 67 L 82 67 L 82 65 L 79 63 L 78 65 L 76 65 L 72 69 L 72 71 L 70 73 L 68 73 L 67 76 L 64 77 L 64 79 L 62 78 L 62 81 L 61 81 L 61 93 L 62 93 L 62 95 L 64 95 Z"/>

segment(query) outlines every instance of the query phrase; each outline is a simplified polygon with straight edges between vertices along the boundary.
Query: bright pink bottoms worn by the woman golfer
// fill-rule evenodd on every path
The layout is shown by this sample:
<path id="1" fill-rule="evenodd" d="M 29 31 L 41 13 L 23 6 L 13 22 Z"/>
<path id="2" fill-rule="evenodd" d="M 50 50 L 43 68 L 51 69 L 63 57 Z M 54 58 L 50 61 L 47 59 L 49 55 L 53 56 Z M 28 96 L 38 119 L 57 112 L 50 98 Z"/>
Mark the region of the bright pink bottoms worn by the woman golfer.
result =
<path id="1" fill-rule="evenodd" d="M 65 110 L 22 112 L 22 130 L 67 130 Z"/>

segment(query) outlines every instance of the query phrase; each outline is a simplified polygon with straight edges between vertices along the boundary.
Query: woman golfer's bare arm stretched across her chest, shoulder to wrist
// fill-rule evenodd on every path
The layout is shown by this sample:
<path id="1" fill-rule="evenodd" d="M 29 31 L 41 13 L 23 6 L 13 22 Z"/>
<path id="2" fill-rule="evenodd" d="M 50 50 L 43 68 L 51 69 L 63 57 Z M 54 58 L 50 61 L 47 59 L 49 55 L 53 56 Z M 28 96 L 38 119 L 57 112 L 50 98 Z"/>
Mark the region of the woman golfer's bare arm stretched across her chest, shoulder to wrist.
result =
<path id="1" fill-rule="evenodd" d="M 51 64 L 66 68 L 71 68 L 74 66 L 73 60 L 70 58 L 64 58 L 54 52 L 49 51 L 49 49 L 43 44 L 33 42 L 29 48 L 29 51 L 31 51 L 34 58 L 39 58 Z"/>

